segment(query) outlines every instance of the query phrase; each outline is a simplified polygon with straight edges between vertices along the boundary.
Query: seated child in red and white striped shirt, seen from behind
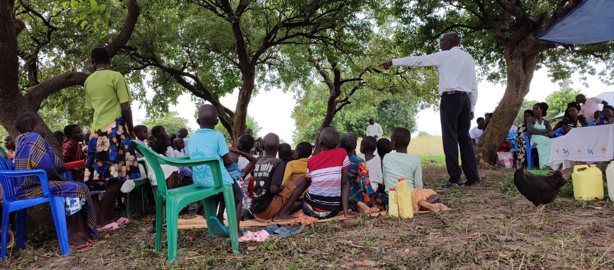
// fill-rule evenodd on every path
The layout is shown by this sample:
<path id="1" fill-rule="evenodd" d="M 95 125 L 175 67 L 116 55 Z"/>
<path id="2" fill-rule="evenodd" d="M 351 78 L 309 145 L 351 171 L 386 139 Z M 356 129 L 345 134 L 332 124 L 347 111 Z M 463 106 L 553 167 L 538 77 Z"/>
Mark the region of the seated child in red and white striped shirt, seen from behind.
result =
<path id="1" fill-rule="evenodd" d="M 360 214 L 349 212 L 348 153 L 339 145 L 339 133 L 333 128 L 320 131 L 317 144 L 321 152 L 307 161 L 306 178 L 311 180 L 303 200 L 303 213 L 318 219 L 332 218 L 343 210 L 347 218 Z"/>

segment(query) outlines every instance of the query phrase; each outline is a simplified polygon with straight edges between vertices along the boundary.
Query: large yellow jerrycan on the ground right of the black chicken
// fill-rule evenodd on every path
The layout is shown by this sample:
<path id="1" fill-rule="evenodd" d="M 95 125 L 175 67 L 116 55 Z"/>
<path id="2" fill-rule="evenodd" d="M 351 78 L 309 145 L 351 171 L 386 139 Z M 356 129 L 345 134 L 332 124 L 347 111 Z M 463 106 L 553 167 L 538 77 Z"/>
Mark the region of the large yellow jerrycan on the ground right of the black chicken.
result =
<path id="1" fill-rule="evenodd" d="M 578 171 L 585 169 L 584 171 Z M 592 201 L 604 198 L 604 177 L 594 164 L 573 166 L 573 197 L 578 201 Z"/>

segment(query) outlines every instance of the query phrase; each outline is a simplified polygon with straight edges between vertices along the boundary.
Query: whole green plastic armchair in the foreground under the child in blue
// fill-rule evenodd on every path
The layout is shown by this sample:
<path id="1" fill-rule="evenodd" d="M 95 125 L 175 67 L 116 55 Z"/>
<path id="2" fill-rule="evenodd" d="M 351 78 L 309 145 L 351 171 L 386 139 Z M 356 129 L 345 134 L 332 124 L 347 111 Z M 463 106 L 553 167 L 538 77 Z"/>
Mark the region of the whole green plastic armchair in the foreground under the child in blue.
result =
<path id="1" fill-rule="evenodd" d="M 156 198 L 156 223 L 155 223 L 155 251 L 160 251 L 161 234 L 162 234 L 162 216 L 166 208 L 166 238 L 168 245 L 168 261 L 172 262 L 177 258 L 177 219 L 179 211 L 188 203 L 202 201 L 204 207 L 204 215 L 207 219 L 207 228 L 210 237 L 216 237 L 216 234 L 211 230 L 209 217 L 216 216 L 216 204 L 214 196 L 218 193 L 223 193 L 224 202 L 228 216 L 228 229 L 230 230 L 230 242 L 235 254 L 239 253 L 239 240 L 237 232 L 237 220 L 235 207 L 235 195 L 232 185 L 225 185 L 222 182 L 222 172 L 220 170 L 219 160 L 217 158 L 203 158 L 200 160 L 190 160 L 189 156 L 182 158 L 166 158 L 158 155 L 149 149 L 144 144 L 133 140 L 131 141 L 134 149 L 145 157 L 149 165 L 155 172 L 155 180 L 158 187 L 155 189 Z M 166 179 L 160 168 L 160 164 L 168 164 L 177 167 L 192 167 L 199 165 L 208 165 L 211 168 L 211 173 L 214 179 L 214 187 L 200 188 L 195 185 L 187 185 L 185 187 L 166 188 Z"/>

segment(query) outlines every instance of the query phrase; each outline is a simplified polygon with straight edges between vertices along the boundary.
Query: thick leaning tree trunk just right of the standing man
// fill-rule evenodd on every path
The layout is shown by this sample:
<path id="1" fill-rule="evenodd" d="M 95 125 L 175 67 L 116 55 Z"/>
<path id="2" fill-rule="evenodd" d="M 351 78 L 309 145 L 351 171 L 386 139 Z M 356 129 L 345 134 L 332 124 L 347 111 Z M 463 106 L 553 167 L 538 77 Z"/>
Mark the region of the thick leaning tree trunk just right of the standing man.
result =
<path id="1" fill-rule="evenodd" d="M 511 46 L 510 46 L 511 47 Z M 478 165 L 493 165 L 497 163 L 497 151 L 505 141 L 511 125 L 523 104 L 524 96 L 529 93 L 529 85 L 535 71 L 535 60 L 538 52 L 523 53 L 519 49 L 506 49 L 507 87 L 499 106 L 493 112 L 488 128 L 478 142 L 476 158 Z M 525 52 L 529 50 L 524 49 Z"/>

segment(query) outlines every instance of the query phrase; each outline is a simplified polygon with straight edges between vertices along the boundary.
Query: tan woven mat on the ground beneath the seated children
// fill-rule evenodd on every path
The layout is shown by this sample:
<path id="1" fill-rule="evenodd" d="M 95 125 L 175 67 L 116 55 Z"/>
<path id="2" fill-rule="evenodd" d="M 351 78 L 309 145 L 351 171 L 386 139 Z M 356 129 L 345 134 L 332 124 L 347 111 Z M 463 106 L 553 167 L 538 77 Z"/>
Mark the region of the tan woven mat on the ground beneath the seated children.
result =
<path id="1" fill-rule="evenodd" d="M 443 209 L 444 211 L 447 210 L 452 210 L 448 207 L 445 207 Z M 429 211 L 418 211 L 418 213 L 429 213 Z M 244 220 L 243 222 L 239 222 L 239 227 L 240 228 L 250 228 L 250 227 L 265 227 L 265 226 L 271 226 L 271 225 L 275 225 L 275 224 L 279 224 L 279 225 L 287 225 L 287 226 L 292 226 L 292 225 L 299 225 L 299 224 L 312 224 L 312 223 L 322 223 L 322 222 L 330 222 L 331 220 L 345 220 L 348 219 L 346 217 L 343 216 L 343 213 L 339 213 L 339 215 L 336 215 L 336 217 L 333 218 L 328 218 L 325 220 L 319 220 L 317 218 L 314 217 L 306 217 L 305 215 L 303 215 L 302 210 L 299 210 L 298 212 L 293 214 L 294 216 L 298 217 L 295 220 L 292 220 L 290 222 L 260 222 L 258 220 Z M 372 213 L 372 214 L 368 214 L 371 217 L 380 217 L 380 216 L 385 216 L 386 211 L 381 211 L 378 213 Z M 228 220 L 224 220 L 224 224 L 228 226 Z M 179 218 L 179 225 L 177 226 L 177 228 L 179 230 L 188 230 L 188 229 L 198 229 L 198 228 L 207 228 L 207 220 L 206 218 L 204 218 L 203 216 L 199 215 L 195 218 L 189 218 L 189 219 L 185 219 L 185 218 Z"/>

